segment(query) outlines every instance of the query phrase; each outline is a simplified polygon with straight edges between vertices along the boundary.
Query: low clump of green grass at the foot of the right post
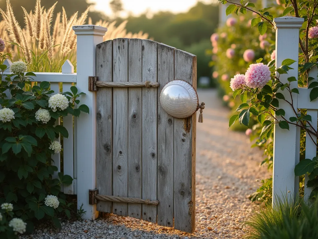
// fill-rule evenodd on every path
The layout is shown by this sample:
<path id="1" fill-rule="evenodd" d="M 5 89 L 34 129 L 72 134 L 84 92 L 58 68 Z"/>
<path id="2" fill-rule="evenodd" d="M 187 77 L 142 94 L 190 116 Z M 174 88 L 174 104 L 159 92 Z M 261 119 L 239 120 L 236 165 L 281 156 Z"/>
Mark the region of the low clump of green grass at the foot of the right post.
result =
<path id="1" fill-rule="evenodd" d="M 318 199 L 306 204 L 302 200 L 279 200 L 260 207 L 247 222 L 248 239 L 315 239 L 318 238 Z"/>

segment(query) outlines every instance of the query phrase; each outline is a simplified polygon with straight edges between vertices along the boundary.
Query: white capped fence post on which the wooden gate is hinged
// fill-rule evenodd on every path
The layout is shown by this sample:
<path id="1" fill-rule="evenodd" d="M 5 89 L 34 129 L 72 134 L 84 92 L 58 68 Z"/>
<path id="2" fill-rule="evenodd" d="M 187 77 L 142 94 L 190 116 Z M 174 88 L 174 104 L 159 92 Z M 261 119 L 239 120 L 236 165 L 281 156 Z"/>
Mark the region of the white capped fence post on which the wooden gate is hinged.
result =
<path id="1" fill-rule="evenodd" d="M 96 45 L 103 42 L 107 28 L 95 25 L 73 26 L 77 35 L 77 88 L 86 95 L 80 105 L 89 107 L 89 114 L 77 119 L 77 207 L 83 204 L 84 219 L 98 216 L 96 205 L 89 205 L 88 190 L 96 188 L 96 92 L 88 91 L 88 76 L 96 73 Z"/>

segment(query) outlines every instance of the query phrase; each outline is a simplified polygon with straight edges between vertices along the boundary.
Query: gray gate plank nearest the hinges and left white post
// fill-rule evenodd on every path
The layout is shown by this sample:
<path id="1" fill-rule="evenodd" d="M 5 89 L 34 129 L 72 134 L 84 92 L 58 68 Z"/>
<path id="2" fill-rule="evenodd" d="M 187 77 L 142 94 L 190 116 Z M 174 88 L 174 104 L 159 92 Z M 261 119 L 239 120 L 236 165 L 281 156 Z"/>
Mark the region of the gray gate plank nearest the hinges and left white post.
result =
<path id="1" fill-rule="evenodd" d="M 113 41 L 96 47 L 96 76 L 100 81 L 113 80 Z M 113 89 L 96 92 L 96 180 L 100 194 L 113 195 Z M 99 201 L 97 210 L 112 212 L 112 202 Z"/>

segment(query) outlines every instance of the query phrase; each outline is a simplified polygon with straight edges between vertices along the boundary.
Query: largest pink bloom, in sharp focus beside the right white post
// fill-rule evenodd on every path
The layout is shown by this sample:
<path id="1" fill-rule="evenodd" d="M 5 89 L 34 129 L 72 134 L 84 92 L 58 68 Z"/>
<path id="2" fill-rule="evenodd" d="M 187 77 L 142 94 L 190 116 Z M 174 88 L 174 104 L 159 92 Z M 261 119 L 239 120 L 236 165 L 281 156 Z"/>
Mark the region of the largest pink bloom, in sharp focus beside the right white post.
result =
<path id="1" fill-rule="evenodd" d="M 271 72 L 263 63 L 251 64 L 245 73 L 245 83 L 248 87 L 262 89 L 271 79 Z"/>

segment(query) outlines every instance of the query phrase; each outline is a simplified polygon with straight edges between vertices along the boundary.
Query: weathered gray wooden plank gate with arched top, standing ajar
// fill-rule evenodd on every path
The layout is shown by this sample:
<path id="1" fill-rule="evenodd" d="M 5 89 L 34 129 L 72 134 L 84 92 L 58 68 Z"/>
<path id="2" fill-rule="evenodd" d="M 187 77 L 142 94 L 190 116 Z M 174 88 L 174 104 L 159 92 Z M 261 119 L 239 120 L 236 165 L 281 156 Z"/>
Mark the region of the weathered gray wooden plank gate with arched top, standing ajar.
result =
<path id="1" fill-rule="evenodd" d="M 175 79 L 196 89 L 196 64 L 196 56 L 151 40 L 120 38 L 97 45 L 99 81 L 159 83 L 158 88 L 98 88 L 99 195 L 159 201 L 98 200 L 98 211 L 194 231 L 196 114 L 173 118 L 162 109 L 159 96 Z"/>

